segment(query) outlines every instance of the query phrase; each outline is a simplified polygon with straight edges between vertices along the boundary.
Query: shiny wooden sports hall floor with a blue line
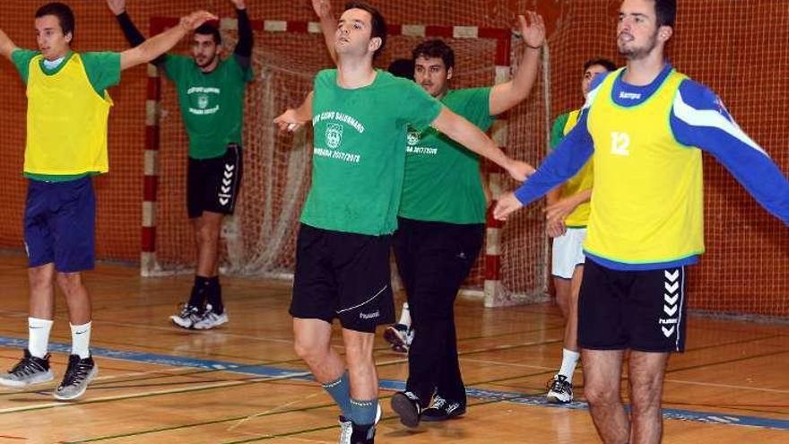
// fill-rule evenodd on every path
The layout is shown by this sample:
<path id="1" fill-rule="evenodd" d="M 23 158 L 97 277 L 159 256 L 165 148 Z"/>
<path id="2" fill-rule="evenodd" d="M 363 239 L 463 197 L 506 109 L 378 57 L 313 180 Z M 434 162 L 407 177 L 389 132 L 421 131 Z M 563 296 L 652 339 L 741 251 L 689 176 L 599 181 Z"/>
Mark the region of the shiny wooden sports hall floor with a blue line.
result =
<path id="1" fill-rule="evenodd" d="M 3 369 L 27 341 L 24 267 L 22 257 L 0 256 Z M 86 274 L 100 375 L 76 403 L 51 396 L 70 344 L 58 296 L 51 338 L 56 381 L 0 388 L 0 444 L 337 441 L 337 410 L 292 351 L 288 283 L 225 278 L 230 324 L 189 332 L 170 326 L 168 316 L 186 297 L 191 277 L 138 274 L 108 265 Z M 585 403 L 543 401 L 561 353 L 557 307 L 482 309 L 479 301 L 462 300 L 457 318 L 468 414 L 406 430 L 388 402 L 403 386 L 405 356 L 379 340 L 384 419 L 377 442 L 598 442 Z M 666 375 L 664 442 L 789 442 L 787 366 L 789 326 L 691 318 L 688 351 L 672 358 Z M 580 371 L 576 379 L 580 386 Z M 583 395 L 577 387 L 577 397 Z"/>

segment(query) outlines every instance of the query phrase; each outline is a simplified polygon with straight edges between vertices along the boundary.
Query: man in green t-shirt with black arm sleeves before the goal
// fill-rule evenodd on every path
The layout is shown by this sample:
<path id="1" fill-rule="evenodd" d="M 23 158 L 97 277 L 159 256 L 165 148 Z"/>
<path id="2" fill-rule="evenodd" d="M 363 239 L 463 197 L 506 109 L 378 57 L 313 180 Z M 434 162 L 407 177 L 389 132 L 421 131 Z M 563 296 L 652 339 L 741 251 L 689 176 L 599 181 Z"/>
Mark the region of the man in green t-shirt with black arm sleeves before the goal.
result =
<path id="1" fill-rule="evenodd" d="M 243 171 L 241 131 L 244 93 L 252 82 L 252 26 L 244 0 L 230 0 L 238 16 L 238 44 L 221 59 L 221 34 L 212 24 L 195 30 L 192 57 L 167 55 L 153 63 L 178 89 L 181 117 L 189 135 L 186 207 L 195 228 L 197 269 L 189 300 L 173 324 L 199 330 L 228 322 L 219 283 L 221 222 L 232 214 Z M 126 0 L 107 0 L 132 46 L 143 40 L 126 13 Z"/>

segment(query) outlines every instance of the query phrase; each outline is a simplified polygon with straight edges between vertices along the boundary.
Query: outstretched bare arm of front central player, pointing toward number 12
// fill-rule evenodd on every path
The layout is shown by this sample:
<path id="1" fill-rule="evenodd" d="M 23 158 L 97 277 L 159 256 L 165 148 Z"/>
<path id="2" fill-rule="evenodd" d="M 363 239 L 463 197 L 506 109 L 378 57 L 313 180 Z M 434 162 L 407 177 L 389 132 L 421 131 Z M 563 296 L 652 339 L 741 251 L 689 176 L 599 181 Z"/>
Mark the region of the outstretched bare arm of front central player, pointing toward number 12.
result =
<path id="1" fill-rule="evenodd" d="M 490 140 L 477 126 L 473 126 L 468 120 L 458 116 L 454 112 L 442 107 L 438 118 L 433 120 L 432 126 L 438 131 L 449 136 L 458 144 L 462 144 L 472 152 L 476 152 L 482 157 L 490 159 L 516 180 L 523 181 L 533 173 L 534 169 L 523 161 L 514 161 L 501 151 L 499 146 Z"/>

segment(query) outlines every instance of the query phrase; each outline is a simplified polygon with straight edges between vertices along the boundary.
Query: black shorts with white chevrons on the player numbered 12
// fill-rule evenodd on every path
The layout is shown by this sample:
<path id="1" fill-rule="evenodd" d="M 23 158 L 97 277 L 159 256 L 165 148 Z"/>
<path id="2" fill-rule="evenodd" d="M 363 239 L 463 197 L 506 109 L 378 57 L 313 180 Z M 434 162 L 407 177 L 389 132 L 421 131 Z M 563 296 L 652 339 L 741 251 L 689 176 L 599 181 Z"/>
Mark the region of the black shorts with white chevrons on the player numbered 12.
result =
<path id="1" fill-rule="evenodd" d="M 620 271 L 587 258 L 578 344 L 592 350 L 685 350 L 685 267 Z"/>

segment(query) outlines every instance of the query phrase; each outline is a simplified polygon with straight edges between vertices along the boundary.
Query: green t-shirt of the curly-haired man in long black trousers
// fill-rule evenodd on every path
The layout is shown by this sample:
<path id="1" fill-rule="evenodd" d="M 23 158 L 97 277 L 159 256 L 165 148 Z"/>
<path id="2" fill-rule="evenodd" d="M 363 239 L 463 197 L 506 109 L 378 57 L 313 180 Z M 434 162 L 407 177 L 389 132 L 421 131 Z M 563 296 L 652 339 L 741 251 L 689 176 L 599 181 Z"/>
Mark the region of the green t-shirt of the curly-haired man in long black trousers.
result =
<path id="1" fill-rule="evenodd" d="M 490 88 L 450 90 L 441 100 L 482 131 L 490 116 Z M 408 133 L 400 215 L 417 221 L 484 223 L 480 158 L 429 127 Z"/>

